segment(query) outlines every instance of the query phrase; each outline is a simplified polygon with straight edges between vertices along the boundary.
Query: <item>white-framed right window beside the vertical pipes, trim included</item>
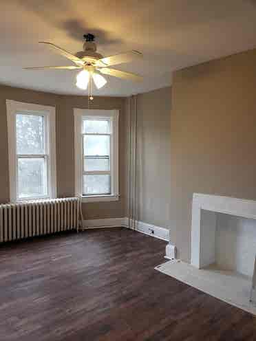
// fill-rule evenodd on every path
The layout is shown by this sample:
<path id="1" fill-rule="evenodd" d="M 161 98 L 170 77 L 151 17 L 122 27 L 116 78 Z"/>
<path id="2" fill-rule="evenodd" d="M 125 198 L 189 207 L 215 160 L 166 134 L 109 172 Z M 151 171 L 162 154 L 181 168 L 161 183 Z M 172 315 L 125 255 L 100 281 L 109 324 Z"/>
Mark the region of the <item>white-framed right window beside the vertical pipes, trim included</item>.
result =
<path id="1" fill-rule="evenodd" d="M 118 200 L 118 111 L 74 109 L 76 194 Z"/>

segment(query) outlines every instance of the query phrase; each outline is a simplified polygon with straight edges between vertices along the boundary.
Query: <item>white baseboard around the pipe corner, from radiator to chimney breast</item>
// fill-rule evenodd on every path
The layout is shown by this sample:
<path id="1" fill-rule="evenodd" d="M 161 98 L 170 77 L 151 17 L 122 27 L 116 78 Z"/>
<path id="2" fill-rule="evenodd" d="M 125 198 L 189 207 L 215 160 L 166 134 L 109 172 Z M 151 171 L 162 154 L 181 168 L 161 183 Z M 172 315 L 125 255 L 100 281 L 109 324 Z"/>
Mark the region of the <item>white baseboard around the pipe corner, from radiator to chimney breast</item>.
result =
<path id="1" fill-rule="evenodd" d="M 83 228 L 116 228 L 118 226 L 129 228 L 129 219 L 123 218 L 106 218 L 106 219 L 92 219 L 84 220 Z M 167 228 L 160 228 L 160 226 L 144 223 L 143 221 L 136 221 L 135 230 L 149 236 L 153 236 L 164 241 L 169 241 L 169 230 Z"/>

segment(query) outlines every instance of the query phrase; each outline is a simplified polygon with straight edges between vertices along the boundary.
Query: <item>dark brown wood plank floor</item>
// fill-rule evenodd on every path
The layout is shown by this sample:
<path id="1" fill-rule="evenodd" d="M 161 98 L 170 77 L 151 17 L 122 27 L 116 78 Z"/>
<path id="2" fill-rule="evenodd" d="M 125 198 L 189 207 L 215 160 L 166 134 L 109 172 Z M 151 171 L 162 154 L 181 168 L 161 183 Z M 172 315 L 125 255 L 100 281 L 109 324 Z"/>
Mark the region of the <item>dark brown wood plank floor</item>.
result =
<path id="1" fill-rule="evenodd" d="M 1 246 L 0 340 L 256 340 L 253 316 L 153 269 L 164 246 L 122 228 Z"/>

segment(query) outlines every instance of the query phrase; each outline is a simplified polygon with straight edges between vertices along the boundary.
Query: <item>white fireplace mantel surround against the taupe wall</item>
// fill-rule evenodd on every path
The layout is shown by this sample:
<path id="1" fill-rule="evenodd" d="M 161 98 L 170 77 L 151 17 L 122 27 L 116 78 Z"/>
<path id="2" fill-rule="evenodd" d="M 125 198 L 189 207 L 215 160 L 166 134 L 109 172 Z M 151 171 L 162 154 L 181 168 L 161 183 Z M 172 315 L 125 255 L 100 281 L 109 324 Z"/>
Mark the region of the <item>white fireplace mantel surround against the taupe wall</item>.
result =
<path id="1" fill-rule="evenodd" d="M 191 264 L 198 269 L 215 263 L 216 212 L 256 219 L 256 201 L 193 194 Z"/>

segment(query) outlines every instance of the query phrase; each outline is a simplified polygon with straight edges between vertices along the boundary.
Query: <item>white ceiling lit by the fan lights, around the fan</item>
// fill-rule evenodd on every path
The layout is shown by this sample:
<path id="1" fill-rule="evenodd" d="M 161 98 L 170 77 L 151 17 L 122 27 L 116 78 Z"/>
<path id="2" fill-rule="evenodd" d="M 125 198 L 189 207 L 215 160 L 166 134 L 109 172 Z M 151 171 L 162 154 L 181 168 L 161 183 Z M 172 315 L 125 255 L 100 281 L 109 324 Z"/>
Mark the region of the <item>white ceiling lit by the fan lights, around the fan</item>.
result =
<path id="1" fill-rule="evenodd" d="M 22 67 L 72 65 L 38 41 L 75 53 L 91 32 L 105 56 L 144 54 L 116 67 L 141 74 L 142 83 L 106 77 L 107 85 L 94 91 L 129 96 L 171 85 L 174 70 L 256 47 L 256 0 L 1 0 L 0 30 L 0 83 L 85 94 L 75 86 L 77 71 Z"/>

